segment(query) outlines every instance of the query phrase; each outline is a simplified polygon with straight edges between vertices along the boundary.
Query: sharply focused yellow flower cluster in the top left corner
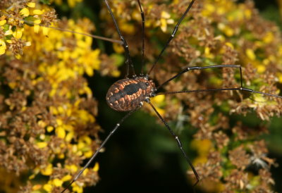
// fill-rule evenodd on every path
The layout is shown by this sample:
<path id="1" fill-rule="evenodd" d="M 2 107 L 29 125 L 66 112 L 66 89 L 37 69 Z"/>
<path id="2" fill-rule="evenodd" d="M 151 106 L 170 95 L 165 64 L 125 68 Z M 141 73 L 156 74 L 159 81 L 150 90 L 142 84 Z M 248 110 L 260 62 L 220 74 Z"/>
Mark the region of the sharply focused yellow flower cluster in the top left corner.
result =
<path id="1" fill-rule="evenodd" d="M 47 35 L 48 26 L 56 20 L 54 11 L 41 9 L 32 1 L 15 3 L 1 10 L 0 16 L 0 55 L 8 50 L 16 58 L 23 55 L 23 47 L 30 46 L 30 42 L 23 39 L 25 24 L 34 25 L 35 32 L 42 28 L 44 35 Z"/>

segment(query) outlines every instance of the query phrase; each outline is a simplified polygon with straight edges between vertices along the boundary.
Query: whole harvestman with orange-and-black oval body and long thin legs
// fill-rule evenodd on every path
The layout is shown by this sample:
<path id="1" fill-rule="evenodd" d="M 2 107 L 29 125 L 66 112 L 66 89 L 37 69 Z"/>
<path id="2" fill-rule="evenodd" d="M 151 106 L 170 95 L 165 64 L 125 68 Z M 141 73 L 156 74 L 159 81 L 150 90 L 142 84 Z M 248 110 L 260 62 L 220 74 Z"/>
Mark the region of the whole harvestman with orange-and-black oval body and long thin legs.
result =
<path id="1" fill-rule="evenodd" d="M 174 27 L 174 30 L 173 30 L 171 36 L 168 38 L 164 48 L 161 50 L 159 56 L 157 57 L 156 61 L 153 63 L 152 67 L 150 68 L 150 70 L 148 71 L 148 73 L 146 75 L 143 75 L 143 66 L 144 66 L 144 61 L 145 61 L 145 15 L 144 15 L 144 12 L 142 11 L 142 6 L 140 4 L 140 0 L 137 0 L 138 6 L 140 8 L 141 17 L 142 17 L 142 72 L 139 76 L 137 76 L 135 74 L 133 62 L 132 62 L 131 57 L 130 57 L 130 51 L 129 51 L 129 48 L 128 48 L 128 44 L 127 44 L 125 38 L 123 37 L 123 35 L 121 35 L 121 31 L 119 30 L 118 24 L 116 22 L 116 19 L 114 18 L 114 14 L 111 11 L 109 3 L 108 3 L 107 0 L 104 0 L 104 2 L 105 2 L 106 6 L 109 10 L 109 13 L 111 14 L 111 18 L 114 21 L 114 25 L 116 26 L 116 30 L 118 32 L 120 39 L 121 39 L 121 44 L 122 44 L 123 49 L 125 51 L 125 58 L 126 58 L 125 64 L 127 66 L 125 78 L 122 79 L 122 80 L 118 80 L 113 85 L 111 85 L 111 87 L 109 88 L 109 90 L 106 94 L 106 101 L 109 104 L 109 106 L 116 111 L 129 111 L 129 112 L 116 124 L 116 126 L 114 127 L 114 130 L 111 130 L 109 135 L 106 137 L 106 139 L 104 139 L 104 142 L 102 142 L 101 146 L 93 154 L 93 156 L 90 158 L 90 160 L 85 164 L 85 166 L 82 168 L 82 170 L 80 170 L 80 172 L 75 176 L 75 178 L 73 178 L 73 180 L 68 184 L 68 186 L 65 189 L 63 189 L 62 192 L 65 192 L 66 189 L 68 189 L 68 187 L 70 187 L 73 184 L 73 182 L 78 180 L 78 178 L 80 177 L 82 172 L 90 165 L 90 163 L 92 163 L 92 161 L 97 156 L 99 151 L 104 147 L 106 142 L 108 142 L 109 138 L 112 135 L 114 135 L 114 132 L 116 132 L 118 127 L 120 127 L 121 123 L 123 123 L 123 121 L 126 118 L 128 118 L 128 116 L 130 116 L 132 113 L 134 113 L 135 111 L 140 109 L 143 105 L 143 102 L 147 102 L 149 104 L 149 106 L 152 107 L 152 109 L 154 110 L 155 113 L 157 113 L 157 116 L 164 123 L 164 125 L 166 126 L 168 131 L 176 139 L 176 142 L 178 144 L 180 151 L 182 152 L 183 156 L 185 157 L 186 161 L 188 162 L 188 164 L 192 168 L 192 171 L 195 175 L 196 182 L 195 182 L 194 186 L 197 185 L 197 183 L 200 181 L 200 176 L 197 174 L 197 171 L 195 170 L 194 166 L 192 166 L 190 158 L 187 156 L 187 154 L 183 150 L 183 146 L 180 142 L 180 139 L 173 132 L 173 130 L 171 130 L 171 127 L 168 126 L 168 123 L 166 123 L 166 120 L 164 120 L 164 118 L 162 118 L 162 116 L 159 114 L 157 109 L 150 102 L 150 98 L 155 97 L 157 95 L 163 95 L 163 94 L 179 94 L 179 93 L 188 93 L 188 92 L 216 92 L 216 91 L 228 91 L 228 90 L 229 91 L 241 91 L 241 92 L 245 91 L 245 92 L 250 92 L 250 93 L 257 93 L 257 94 L 262 94 L 262 95 L 281 98 L 281 99 L 282 99 L 282 97 L 275 95 L 275 94 L 257 92 L 255 90 L 243 87 L 242 68 L 241 68 L 240 65 L 216 65 L 216 66 L 204 66 L 204 67 L 200 67 L 200 66 L 188 67 L 188 68 L 181 70 L 180 73 L 178 73 L 177 75 L 174 75 L 173 77 L 169 78 L 168 80 L 163 82 L 158 87 L 155 87 L 154 82 L 152 80 L 149 80 L 149 75 L 150 75 L 150 73 L 152 73 L 152 70 L 154 69 L 157 62 L 159 61 L 159 58 L 161 58 L 162 54 L 164 53 L 164 51 L 168 47 L 168 44 L 171 42 L 173 37 L 176 35 L 176 32 L 178 31 L 178 26 L 180 25 L 182 20 L 185 18 L 185 15 L 187 15 L 187 13 L 190 11 L 190 8 L 192 7 L 192 4 L 194 4 L 195 0 L 192 0 L 190 2 L 190 4 L 188 5 L 188 8 L 186 8 L 186 10 L 183 13 L 183 15 L 181 16 L 180 20 L 178 20 L 178 23 Z M 111 42 L 120 42 L 120 41 L 115 41 L 113 39 L 106 39 L 106 38 L 101 38 L 101 37 L 95 37 L 95 38 L 104 39 L 104 40 L 108 40 L 108 41 L 111 41 Z M 185 90 L 185 91 L 179 91 L 179 92 L 158 93 L 158 90 L 162 86 L 166 85 L 171 80 L 176 79 L 176 77 L 179 77 L 183 73 L 186 73 L 190 70 L 204 70 L 204 69 L 207 69 L 207 68 L 239 68 L 239 70 L 240 70 L 240 87 L 221 88 L 221 89 Z M 133 74 L 132 77 L 128 77 L 130 69 L 132 70 L 132 74 Z"/>

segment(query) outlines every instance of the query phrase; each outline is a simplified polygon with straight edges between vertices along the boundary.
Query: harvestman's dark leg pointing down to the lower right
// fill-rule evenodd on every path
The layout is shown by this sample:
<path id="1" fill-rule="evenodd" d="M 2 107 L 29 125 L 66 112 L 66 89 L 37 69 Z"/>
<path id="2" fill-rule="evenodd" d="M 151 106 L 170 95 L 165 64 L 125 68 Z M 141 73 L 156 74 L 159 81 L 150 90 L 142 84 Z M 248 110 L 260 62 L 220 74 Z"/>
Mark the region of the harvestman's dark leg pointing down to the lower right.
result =
<path id="1" fill-rule="evenodd" d="M 197 183 L 200 181 L 200 176 L 198 175 L 197 171 L 195 170 L 194 166 L 192 165 L 192 162 L 190 161 L 190 158 L 186 155 L 185 151 L 183 150 L 183 146 L 182 143 L 180 142 L 179 137 L 173 132 L 173 130 L 171 130 L 171 127 L 168 126 L 168 123 L 166 123 L 166 120 L 164 120 L 164 118 L 161 117 L 161 115 L 159 114 L 159 112 L 157 111 L 157 109 L 151 104 L 151 102 L 149 101 L 149 99 L 147 99 L 146 101 L 150 106 L 152 106 L 152 108 L 154 109 L 154 111 L 157 113 L 157 116 L 161 119 L 161 121 L 164 123 L 164 125 L 166 125 L 166 128 L 168 128 L 168 131 L 171 133 L 171 135 L 173 135 L 174 139 L 176 139 L 176 142 L 178 144 L 178 147 L 180 149 L 180 151 L 182 152 L 183 156 L 185 157 L 185 159 L 188 161 L 189 166 L 192 168 L 192 171 L 197 179 L 197 181 L 194 184 L 197 185 Z"/>

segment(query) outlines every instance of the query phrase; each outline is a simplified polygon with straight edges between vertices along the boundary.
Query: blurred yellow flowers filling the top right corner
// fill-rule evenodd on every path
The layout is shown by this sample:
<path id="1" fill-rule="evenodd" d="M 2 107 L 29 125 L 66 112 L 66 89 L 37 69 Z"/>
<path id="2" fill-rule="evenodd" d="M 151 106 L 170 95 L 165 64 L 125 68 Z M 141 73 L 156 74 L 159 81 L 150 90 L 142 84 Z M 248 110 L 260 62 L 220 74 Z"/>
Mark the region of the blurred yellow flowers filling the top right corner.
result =
<path id="1" fill-rule="evenodd" d="M 232 4 L 230 1 L 212 1 L 207 0 L 202 10 L 202 15 L 213 20 L 214 15 L 226 18 L 221 23 L 217 23 L 217 28 L 221 31 L 218 37 L 223 42 L 233 46 L 233 49 L 239 51 L 242 58 L 242 65 L 251 63 L 257 68 L 258 73 L 264 73 L 267 66 L 271 63 L 281 63 L 282 45 L 276 44 L 278 37 L 278 27 L 268 25 L 268 27 L 252 26 L 255 17 L 259 15 L 254 12 L 252 3 L 249 4 Z M 261 21 L 262 22 L 262 21 Z M 246 26 L 249 23 L 250 26 Z M 255 23 L 254 23 L 255 24 Z M 259 24 L 259 23 L 257 23 Z M 252 42 L 250 47 L 243 45 L 243 41 L 236 39 L 247 39 Z M 276 45 L 275 45 L 276 44 Z M 270 52 L 269 47 L 275 46 L 274 52 Z M 282 76 L 277 74 L 281 82 Z"/>

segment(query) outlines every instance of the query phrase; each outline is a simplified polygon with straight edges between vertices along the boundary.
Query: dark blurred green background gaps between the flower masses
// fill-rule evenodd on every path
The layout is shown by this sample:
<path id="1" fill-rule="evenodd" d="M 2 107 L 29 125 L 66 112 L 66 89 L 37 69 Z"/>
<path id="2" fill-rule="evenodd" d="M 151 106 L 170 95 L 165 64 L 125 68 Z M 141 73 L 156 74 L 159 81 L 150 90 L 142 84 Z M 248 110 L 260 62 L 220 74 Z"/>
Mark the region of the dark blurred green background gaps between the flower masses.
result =
<path id="1" fill-rule="evenodd" d="M 264 18 L 282 26 L 277 1 L 257 0 L 255 4 Z M 68 10 L 62 11 L 62 15 L 83 13 L 94 21 L 97 27 L 96 34 L 103 35 L 99 26 L 101 6 L 105 6 L 102 1 L 88 0 L 71 13 Z M 104 52 L 111 54 L 111 44 L 107 42 L 96 41 L 94 46 L 99 46 Z M 140 58 L 133 60 L 135 64 L 141 61 Z M 124 70 L 123 67 L 121 70 Z M 97 121 L 104 129 L 104 133 L 100 135 L 101 139 L 104 139 L 118 120 L 125 115 L 109 108 L 105 101 L 107 89 L 118 79 L 102 77 L 99 73 L 95 73 L 94 77 L 88 80 L 90 87 L 93 88 L 94 97 L 99 101 Z M 96 187 L 87 188 L 87 192 L 192 192 L 186 177 L 188 164 L 166 127 L 157 124 L 156 119 L 143 111 L 138 111 L 125 120 L 120 130 L 106 144 L 106 151 L 97 156 L 101 180 Z M 233 116 L 233 120 L 243 120 L 244 123 L 248 122 L 253 126 L 261 121 L 255 115 L 247 118 Z M 264 135 L 269 143 L 269 157 L 276 158 L 277 163 L 282 163 L 281 123 L 281 118 L 273 118 L 269 135 Z M 176 122 L 170 122 L 169 125 L 175 129 Z M 188 147 L 195 130 L 186 122 L 180 129 L 181 132 L 177 134 L 183 142 L 185 151 L 190 158 L 194 158 L 195 151 Z M 271 168 L 271 172 L 276 182 L 275 191 L 282 192 L 282 166 Z"/>

